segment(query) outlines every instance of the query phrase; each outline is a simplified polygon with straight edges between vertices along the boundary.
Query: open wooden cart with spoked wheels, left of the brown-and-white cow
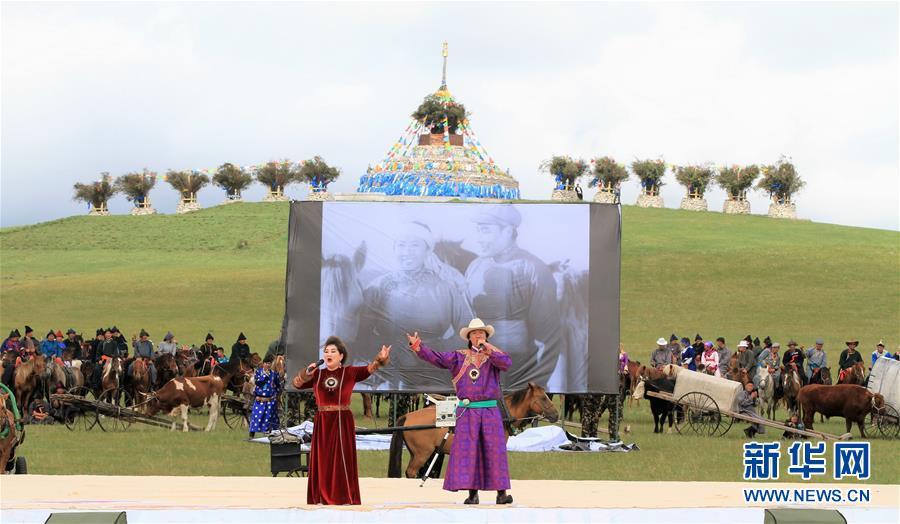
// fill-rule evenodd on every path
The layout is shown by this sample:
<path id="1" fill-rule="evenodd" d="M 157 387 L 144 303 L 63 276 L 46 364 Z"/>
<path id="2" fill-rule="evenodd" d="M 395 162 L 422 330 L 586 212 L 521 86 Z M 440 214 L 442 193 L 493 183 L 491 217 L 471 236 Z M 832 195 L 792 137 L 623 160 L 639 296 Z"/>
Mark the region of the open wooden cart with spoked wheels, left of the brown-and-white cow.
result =
<path id="1" fill-rule="evenodd" d="M 59 401 L 64 406 L 63 418 L 70 430 L 91 430 L 95 426 L 103 431 L 125 431 L 133 423 L 146 424 L 169 429 L 172 420 L 162 417 L 150 416 L 140 412 L 140 405 L 127 402 L 124 395 L 118 395 L 117 391 L 108 392 L 109 395 L 100 395 L 103 400 L 91 400 L 86 395 L 62 393 L 50 395 L 50 400 Z M 200 431 L 193 424 L 188 424 L 191 431 Z"/>

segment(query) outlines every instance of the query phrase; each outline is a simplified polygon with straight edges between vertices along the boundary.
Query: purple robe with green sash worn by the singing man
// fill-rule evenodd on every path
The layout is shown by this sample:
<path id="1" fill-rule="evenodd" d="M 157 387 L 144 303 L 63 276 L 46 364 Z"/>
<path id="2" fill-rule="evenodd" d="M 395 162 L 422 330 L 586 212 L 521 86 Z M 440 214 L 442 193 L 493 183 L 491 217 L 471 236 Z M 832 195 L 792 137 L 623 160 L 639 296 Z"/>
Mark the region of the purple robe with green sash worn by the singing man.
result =
<path id="1" fill-rule="evenodd" d="M 422 345 L 416 354 L 425 362 L 450 370 L 460 400 L 503 402 L 500 372 L 512 365 L 512 359 L 506 353 L 494 351 L 486 355 L 471 349 L 439 352 Z M 475 380 L 469 374 L 473 369 L 478 369 Z M 499 407 L 457 408 L 444 489 L 509 489 L 506 433 Z"/>

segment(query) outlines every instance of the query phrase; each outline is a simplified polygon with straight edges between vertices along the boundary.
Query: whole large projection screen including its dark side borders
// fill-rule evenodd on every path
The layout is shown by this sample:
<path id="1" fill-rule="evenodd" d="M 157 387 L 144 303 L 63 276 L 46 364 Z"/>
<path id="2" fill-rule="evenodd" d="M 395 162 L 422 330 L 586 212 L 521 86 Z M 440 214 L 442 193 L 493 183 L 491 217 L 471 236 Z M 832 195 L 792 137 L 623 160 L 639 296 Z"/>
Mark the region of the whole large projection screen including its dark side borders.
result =
<path id="1" fill-rule="evenodd" d="M 337 335 L 351 364 L 393 347 L 357 391 L 450 392 L 450 373 L 420 361 L 405 334 L 456 351 L 478 317 L 512 358 L 505 391 L 618 391 L 616 205 L 294 202 L 288 237 L 289 377 Z"/>

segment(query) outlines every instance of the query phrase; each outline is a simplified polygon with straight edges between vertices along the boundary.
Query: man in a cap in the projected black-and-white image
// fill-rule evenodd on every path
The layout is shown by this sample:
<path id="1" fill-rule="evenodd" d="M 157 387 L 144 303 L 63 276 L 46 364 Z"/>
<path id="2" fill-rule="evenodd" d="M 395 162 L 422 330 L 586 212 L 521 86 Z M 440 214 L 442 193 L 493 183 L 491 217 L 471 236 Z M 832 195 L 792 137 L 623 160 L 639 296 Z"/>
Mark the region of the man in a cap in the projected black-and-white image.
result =
<path id="1" fill-rule="evenodd" d="M 505 387 L 547 384 L 568 352 L 564 329 L 570 327 L 562 324 L 556 279 L 544 261 L 518 246 L 522 216 L 513 205 L 477 207 L 472 222 L 478 258 L 466 270 L 475 316 L 497 327 L 494 343 L 516 363 Z M 575 360 L 573 365 L 582 365 Z"/>

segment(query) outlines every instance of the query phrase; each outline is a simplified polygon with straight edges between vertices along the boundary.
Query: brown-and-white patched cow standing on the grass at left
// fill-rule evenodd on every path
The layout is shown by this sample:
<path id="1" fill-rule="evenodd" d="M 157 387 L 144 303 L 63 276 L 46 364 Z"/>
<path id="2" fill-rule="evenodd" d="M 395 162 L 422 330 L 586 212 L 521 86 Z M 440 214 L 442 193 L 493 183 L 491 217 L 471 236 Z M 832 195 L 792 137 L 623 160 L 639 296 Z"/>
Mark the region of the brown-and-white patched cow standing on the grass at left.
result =
<path id="1" fill-rule="evenodd" d="M 209 422 L 206 431 L 216 428 L 219 418 L 219 402 L 225 391 L 227 379 L 216 375 L 203 377 L 175 377 L 156 391 L 151 397 L 147 414 L 153 416 L 159 412 L 168 413 L 172 417 L 178 416 L 181 410 L 183 422 L 182 431 L 188 431 L 188 408 L 200 408 L 209 406 Z M 175 431 L 177 419 L 172 420 L 172 431 Z"/>

